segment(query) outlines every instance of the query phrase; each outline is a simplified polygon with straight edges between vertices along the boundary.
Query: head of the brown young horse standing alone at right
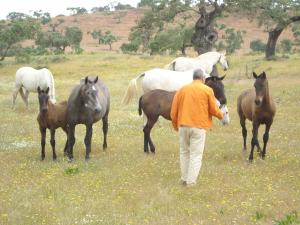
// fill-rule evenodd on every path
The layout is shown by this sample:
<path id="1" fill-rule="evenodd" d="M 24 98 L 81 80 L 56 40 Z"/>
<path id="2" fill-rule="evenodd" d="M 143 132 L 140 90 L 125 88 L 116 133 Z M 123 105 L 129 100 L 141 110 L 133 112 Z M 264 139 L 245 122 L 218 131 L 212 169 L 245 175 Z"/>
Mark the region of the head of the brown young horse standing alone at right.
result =
<path id="1" fill-rule="evenodd" d="M 253 77 L 255 78 L 254 88 L 255 88 L 255 105 L 260 107 L 264 101 L 265 93 L 268 88 L 267 75 L 265 72 L 262 72 L 260 75 L 257 75 L 253 72 Z"/>

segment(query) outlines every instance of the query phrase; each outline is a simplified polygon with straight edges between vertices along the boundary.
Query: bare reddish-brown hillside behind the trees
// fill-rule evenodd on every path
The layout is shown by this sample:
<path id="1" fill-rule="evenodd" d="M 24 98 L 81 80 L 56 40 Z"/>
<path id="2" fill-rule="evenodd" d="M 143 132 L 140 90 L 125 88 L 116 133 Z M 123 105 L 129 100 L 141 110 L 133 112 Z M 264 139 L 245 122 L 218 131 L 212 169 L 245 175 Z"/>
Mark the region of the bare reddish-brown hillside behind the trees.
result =
<path id="1" fill-rule="evenodd" d="M 142 17 L 143 14 L 144 9 L 133 9 L 129 11 L 103 12 L 78 16 L 59 16 L 55 17 L 53 22 L 59 19 L 64 20 L 64 23 L 57 28 L 57 30 L 60 31 L 67 26 L 79 26 L 84 34 L 81 47 L 87 52 L 97 52 L 108 50 L 108 46 L 98 45 L 97 40 L 94 40 L 88 32 L 92 32 L 93 30 L 102 30 L 102 32 L 105 32 L 106 30 L 112 31 L 114 35 L 120 37 L 120 40 L 112 46 L 113 50 L 118 50 L 122 43 L 128 41 L 130 29 L 135 25 L 136 20 Z M 250 51 L 249 45 L 251 40 L 261 39 L 266 42 L 268 37 L 268 34 L 264 32 L 262 28 L 257 27 L 255 21 L 250 22 L 246 17 L 241 15 L 232 15 L 222 18 L 220 23 L 225 24 L 227 27 L 246 31 L 246 34 L 243 36 L 244 43 L 242 50 L 240 50 L 241 53 Z M 50 29 L 50 27 L 45 27 L 45 29 Z M 285 38 L 293 39 L 293 34 L 290 29 L 286 29 L 282 33 L 279 42 Z"/>

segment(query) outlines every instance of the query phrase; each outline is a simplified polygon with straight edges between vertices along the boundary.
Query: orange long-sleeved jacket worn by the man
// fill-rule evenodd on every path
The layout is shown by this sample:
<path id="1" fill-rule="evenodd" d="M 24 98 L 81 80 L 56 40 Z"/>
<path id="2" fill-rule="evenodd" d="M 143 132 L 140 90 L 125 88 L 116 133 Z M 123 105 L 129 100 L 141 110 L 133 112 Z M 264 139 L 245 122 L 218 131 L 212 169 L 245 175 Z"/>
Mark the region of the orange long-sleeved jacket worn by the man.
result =
<path id="1" fill-rule="evenodd" d="M 216 104 L 213 90 L 201 80 L 194 80 L 176 92 L 171 109 L 176 130 L 180 126 L 210 128 L 212 116 L 222 119 L 223 113 Z"/>

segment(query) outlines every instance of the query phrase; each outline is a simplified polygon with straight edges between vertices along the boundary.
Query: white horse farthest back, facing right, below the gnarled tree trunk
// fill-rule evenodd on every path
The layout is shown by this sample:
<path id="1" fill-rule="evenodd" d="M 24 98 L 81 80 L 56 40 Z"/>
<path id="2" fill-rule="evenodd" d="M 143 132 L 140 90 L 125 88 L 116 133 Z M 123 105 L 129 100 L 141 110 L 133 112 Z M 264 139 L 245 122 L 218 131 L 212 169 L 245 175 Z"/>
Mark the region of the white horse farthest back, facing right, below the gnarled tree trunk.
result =
<path id="1" fill-rule="evenodd" d="M 187 71 L 202 69 L 205 73 L 211 74 L 213 66 L 220 63 L 224 70 L 228 69 L 228 62 L 225 53 L 206 52 L 196 58 L 178 57 L 165 66 L 165 69 L 175 71 Z"/>

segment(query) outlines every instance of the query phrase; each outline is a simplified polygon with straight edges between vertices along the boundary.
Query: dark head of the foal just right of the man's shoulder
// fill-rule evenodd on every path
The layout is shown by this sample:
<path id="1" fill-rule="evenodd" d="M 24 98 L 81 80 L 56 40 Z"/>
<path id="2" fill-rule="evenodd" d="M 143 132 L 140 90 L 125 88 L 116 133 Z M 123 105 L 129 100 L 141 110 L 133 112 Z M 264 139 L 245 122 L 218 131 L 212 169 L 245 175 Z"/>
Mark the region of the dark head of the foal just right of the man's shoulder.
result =
<path id="1" fill-rule="evenodd" d="M 223 77 L 211 76 L 205 79 L 205 84 L 213 89 L 215 97 L 218 99 L 221 105 L 225 105 L 227 103 L 224 84 L 222 82 L 225 76 L 226 75 Z"/>

